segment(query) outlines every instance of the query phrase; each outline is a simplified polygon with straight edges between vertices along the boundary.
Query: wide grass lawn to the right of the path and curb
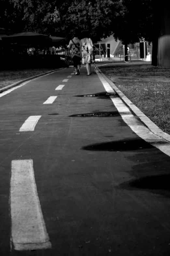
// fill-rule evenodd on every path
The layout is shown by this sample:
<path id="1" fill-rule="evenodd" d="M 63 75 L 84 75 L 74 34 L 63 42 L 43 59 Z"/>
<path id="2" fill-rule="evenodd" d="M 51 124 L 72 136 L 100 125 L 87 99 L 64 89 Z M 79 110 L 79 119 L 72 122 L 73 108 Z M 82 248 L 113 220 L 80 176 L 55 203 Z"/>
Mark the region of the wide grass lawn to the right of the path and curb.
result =
<path id="1" fill-rule="evenodd" d="M 170 134 L 170 68 L 146 63 L 99 68 L 150 120 Z"/>

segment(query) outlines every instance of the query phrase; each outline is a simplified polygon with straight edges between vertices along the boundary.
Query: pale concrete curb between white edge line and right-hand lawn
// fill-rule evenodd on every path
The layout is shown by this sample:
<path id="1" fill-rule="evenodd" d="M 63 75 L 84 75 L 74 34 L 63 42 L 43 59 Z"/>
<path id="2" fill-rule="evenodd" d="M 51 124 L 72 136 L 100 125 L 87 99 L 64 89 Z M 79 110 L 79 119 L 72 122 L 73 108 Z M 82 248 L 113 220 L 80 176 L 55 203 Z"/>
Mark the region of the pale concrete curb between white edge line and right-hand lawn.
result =
<path id="1" fill-rule="evenodd" d="M 116 85 L 110 81 L 106 75 L 102 73 L 102 71 L 97 67 L 97 70 L 100 74 L 105 78 L 105 80 L 109 83 L 109 85 L 116 91 L 116 93 L 120 96 L 120 99 L 129 107 L 129 109 L 137 116 L 145 126 L 155 135 L 167 140 L 170 142 L 170 135 L 164 133 L 154 122 L 152 122 L 138 107 L 136 107 L 117 87 Z"/>

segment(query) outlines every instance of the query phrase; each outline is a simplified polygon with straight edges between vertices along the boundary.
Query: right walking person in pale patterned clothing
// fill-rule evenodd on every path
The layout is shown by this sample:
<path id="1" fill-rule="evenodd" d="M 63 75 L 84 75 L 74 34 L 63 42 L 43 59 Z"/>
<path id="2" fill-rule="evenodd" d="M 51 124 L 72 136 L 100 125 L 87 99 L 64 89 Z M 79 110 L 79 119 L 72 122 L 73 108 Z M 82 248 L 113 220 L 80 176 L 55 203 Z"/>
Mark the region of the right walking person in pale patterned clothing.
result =
<path id="1" fill-rule="evenodd" d="M 82 57 L 82 64 L 86 64 L 87 75 L 91 75 L 91 63 L 93 62 L 92 39 L 85 37 L 80 40 L 80 56 Z"/>

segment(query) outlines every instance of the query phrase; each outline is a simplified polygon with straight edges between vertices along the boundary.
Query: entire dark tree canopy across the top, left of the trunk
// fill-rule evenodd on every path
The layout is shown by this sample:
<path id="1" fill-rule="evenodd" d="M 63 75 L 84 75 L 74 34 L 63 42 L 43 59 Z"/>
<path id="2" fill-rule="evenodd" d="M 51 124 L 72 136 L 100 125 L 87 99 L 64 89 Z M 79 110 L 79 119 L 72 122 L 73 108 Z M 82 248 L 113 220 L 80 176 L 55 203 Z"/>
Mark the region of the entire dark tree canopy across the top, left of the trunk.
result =
<path id="1" fill-rule="evenodd" d="M 114 35 L 123 44 L 152 40 L 153 0 L 0 0 L 0 27 L 93 42 Z"/>

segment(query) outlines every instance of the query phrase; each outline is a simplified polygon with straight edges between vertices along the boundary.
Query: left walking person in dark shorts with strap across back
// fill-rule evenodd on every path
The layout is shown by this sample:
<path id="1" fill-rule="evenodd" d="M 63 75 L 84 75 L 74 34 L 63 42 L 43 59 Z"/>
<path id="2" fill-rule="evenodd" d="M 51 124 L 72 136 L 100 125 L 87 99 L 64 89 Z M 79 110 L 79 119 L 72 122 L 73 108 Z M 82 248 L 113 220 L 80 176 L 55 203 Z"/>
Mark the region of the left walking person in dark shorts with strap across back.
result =
<path id="1" fill-rule="evenodd" d="M 74 38 L 70 40 L 68 48 L 71 48 L 71 57 L 73 60 L 74 69 L 76 71 L 75 75 L 80 74 L 80 40 L 78 39 L 78 35 L 75 34 Z"/>

